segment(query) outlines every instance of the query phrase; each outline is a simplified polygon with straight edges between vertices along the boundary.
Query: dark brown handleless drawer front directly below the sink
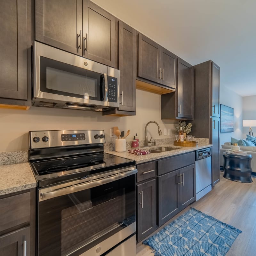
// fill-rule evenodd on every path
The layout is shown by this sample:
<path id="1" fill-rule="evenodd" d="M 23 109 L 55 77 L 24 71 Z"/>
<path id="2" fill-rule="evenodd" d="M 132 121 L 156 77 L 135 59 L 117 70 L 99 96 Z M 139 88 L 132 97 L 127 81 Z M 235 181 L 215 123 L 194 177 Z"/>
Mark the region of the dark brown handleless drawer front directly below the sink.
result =
<path id="1" fill-rule="evenodd" d="M 195 163 L 195 152 L 189 152 L 187 154 L 172 156 L 163 160 L 157 161 L 157 175 L 162 175 L 167 172 L 171 172 L 190 164 Z"/>

